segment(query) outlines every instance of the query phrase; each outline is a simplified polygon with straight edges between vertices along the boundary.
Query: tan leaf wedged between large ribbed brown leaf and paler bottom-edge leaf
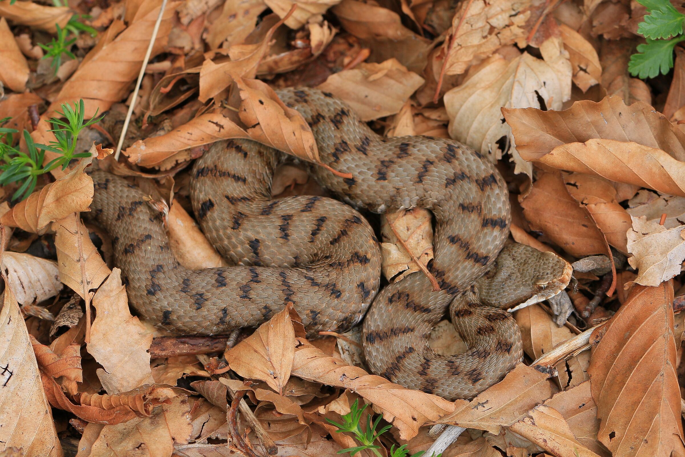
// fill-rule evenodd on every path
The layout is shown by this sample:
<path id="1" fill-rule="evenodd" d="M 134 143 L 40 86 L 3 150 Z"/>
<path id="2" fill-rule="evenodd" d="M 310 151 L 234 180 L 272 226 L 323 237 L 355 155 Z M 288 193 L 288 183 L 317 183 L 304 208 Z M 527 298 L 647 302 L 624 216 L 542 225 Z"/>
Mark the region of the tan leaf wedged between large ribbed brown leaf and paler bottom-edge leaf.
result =
<path id="1" fill-rule="evenodd" d="M 582 445 L 603 457 L 609 453 L 597 441 L 599 419 L 597 419 L 597 405 L 590 392 L 590 381 L 554 394 L 545 405 L 556 409 L 569 424 L 573 436 Z"/>

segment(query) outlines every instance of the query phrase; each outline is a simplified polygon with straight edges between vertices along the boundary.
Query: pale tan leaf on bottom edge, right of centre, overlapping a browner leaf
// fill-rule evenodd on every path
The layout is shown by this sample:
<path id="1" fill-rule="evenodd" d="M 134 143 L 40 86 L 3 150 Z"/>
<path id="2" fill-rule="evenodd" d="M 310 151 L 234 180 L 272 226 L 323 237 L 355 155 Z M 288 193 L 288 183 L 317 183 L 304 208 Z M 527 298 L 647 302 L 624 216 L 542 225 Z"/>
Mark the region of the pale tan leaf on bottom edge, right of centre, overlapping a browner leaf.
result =
<path id="1" fill-rule="evenodd" d="M 510 426 L 512 432 L 545 449 L 556 457 L 599 457 L 578 441 L 564 417 L 551 406 L 536 406 L 530 417 Z"/>

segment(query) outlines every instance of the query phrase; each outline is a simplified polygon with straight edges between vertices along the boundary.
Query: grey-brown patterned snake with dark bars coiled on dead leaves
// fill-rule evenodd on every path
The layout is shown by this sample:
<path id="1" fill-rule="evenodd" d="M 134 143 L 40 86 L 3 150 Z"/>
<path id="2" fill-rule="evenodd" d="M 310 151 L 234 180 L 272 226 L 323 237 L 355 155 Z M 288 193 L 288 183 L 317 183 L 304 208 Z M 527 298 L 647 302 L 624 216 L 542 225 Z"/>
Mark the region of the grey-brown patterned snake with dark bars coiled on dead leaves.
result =
<path id="1" fill-rule="evenodd" d="M 84 217 L 110 234 L 138 314 L 175 334 L 213 335 L 256 327 L 292 304 L 310 336 L 363 319 L 366 361 L 390 382 L 446 399 L 499 382 L 523 354 L 506 308 L 556 295 L 571 270 L 555 254 L 508 244 L 510 201 L 495 166 L 455 140 L 380 136 L 328 92 L 277 95 L 307 121 L 321 162 L 351 177 L 310 164 L 338 199 L 274 198 L 284 153 L 251 140 L 214 143 L 192 165 L 190 201 L 229 267 L 183 267 L 145 193 L 106 171 L 90 173 L 95 195 Z M 412 208 L 432 212 L 428 270 L 438 291 L 421 271 L 380 288 L 379 243 L 362 212 Z M 469 347 L 462 354 L 427 344 L 448 313 Z"/>

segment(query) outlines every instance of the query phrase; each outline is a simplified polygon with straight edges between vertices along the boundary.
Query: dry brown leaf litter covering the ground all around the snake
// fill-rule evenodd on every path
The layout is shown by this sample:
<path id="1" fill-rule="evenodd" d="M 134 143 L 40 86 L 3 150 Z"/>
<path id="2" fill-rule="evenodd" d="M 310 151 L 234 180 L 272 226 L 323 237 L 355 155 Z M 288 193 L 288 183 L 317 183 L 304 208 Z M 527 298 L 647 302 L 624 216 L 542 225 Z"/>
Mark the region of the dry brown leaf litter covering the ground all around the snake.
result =
<path id="1" fill-rule="evenodd" d="M 443 457 L 685 455 L 683 5 L 170 1 L 114 161 L 162 1 L 48 3 L 0 1 L 0 455 L 405 457 L 445 424 L 466 431 Z M 86 171 L 145 188 L 185 267 L 223 266 L 188 164 L 225 138 L 319 162 L 288 86 L 386 136 L 476 149 L 508 182 L 514 240 L 575 262 L 565 323 L 560 301 L 514 313 L 525 356 L 499 384 L 456 402 L 403 388 L 365 369 L 358 329 L 306 336 L 292 306 L 219 337 L 132 314 L 112 241 L 82 221 Z M 65 140 L 65 104 L 105 119 Z M 295 165 L 278 194 L 327 195 Z M 378 225 L 388 280 L 427 272 L 431 214 Z M 447 321 L 431 345 L 465 347 Z"/>

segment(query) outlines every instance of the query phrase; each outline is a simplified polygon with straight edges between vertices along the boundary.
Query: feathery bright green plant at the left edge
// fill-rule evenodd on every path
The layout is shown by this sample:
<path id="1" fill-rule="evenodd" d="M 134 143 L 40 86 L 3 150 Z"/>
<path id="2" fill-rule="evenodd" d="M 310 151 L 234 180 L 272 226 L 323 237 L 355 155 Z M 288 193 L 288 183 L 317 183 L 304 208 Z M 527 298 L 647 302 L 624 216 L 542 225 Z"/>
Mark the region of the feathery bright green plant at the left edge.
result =
<path id="1" fill-rule="evenodd" d="M 49 132 L 55 134 L 56 141 L 51 142 L 49 145 L 34 143 L 29 132 L 24 130 L 23 137 L 28 153 L 20 151 L 14 146 L 14 134 L 18 133 L 18 130 L 1 127 L 10 118 L 0 119 L 0 170 L 2 170 L 2 173 L 0 173 L 0 186 L 5 186 L 12 182 L 21 182 L 14 195 L 12 195 L 12 199 L 24 199 L 32 193 L 34 188 L 36 188 L 38 176 L 48 173 L 58 166 L 61 166 L 64 170 L 72 159 L 90 156 L 87 152 L 74 153 L 76 140 L 82 129 L 99 122 L 103 116 L 96 119 L 97 112 L 95 112 L 95 115 L 89 121 L 85 121 L 83 100 L 74 103 L 73 107 L 69 106 L 68 103 L 63 103 L 62 112 L 57 114 L 64 117 L 66 121 L 55 117 L 50 119 L 49 122 L 52 124 L 53 129 L 49 130 Z M 45 151 L 52 151 L 60 154 L 60 156 L 43 165 Z"/>

